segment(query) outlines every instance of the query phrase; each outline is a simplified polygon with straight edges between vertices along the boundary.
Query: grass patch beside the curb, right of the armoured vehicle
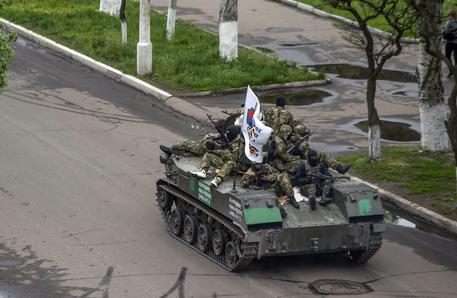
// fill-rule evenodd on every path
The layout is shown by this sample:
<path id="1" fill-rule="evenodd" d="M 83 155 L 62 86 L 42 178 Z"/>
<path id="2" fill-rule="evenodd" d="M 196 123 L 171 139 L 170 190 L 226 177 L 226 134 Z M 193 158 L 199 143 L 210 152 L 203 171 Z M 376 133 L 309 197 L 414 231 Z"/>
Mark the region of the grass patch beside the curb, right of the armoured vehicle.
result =
<path id="1" fill-rule="evenodd" d="M 454 158 L 451 154 L 430 153 L 417 147 L 386 147 L 382 161 L 367 163 L 367 153 L 339 157 L 352 164 L 356 176 L 374 183 L 388 183 L 393 192 L 440 214 L 457 219 Z"/>

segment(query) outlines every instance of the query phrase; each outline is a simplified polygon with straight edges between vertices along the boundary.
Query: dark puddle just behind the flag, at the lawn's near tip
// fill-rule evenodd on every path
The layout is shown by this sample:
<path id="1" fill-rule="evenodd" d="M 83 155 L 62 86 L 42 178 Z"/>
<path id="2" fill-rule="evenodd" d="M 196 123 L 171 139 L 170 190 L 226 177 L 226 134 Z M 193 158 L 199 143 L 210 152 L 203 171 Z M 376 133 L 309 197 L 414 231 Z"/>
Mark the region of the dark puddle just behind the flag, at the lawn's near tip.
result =
<path id="1" fill-rule="evenodd" d="M 282 95 L 286 98 L 286 104 L 289 106 L 312 105 L 315 103 L 323 102 L 324 98 L 332 96 L 332 94 L 326 91 L 317 89 L 306 89 L 295 92 L 288 91 L 288 93 L 273 91 L 260 95 L 260 102 L 274 104 L 276 97 L 279 95 Z"/>

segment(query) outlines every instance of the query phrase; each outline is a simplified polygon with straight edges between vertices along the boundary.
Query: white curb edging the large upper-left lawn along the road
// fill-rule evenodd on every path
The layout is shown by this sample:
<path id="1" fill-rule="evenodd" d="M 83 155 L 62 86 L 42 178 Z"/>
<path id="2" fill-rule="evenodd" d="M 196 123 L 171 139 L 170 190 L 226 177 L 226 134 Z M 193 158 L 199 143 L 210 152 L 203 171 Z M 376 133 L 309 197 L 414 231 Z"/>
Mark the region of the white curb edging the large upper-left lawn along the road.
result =
<path id="1" fill-rule="evenodd" d="M 83 55 L 83 54 L 76 52 L 70 48 L 67 48 L 61 44 L 58 44 L 31 30 L 28 30 L 22 26 L 11 23 L 8 20 L 0 18 L 0 23 L 3 24 L 5 27 L 7 27 L 9 30 L 17 32 L 20 36 L 22 36 L 28 40 L 31 40 L 50 50 L 53 50 L 54 52 L 56 52 L 64 57 L 68 57 L 71 60 L 77 61 L 97 72 L 102 73 L 103 75 L 105 75 L 106 77 L 108 77 L 110 79 L 116 80 L 118 82 L 122 82 L 130 87 L 141 90 L 142 92 L 144 92 L 146 94 L 155 96 L 155 97 L 159 98 L 160 100 L 166 100 L 167 98 L 172 96 L 168 92 L 161 90 L 157 87 L 154 87 L 151 84 L 146 83 L 145 81 L 142 81 L 134 76 L 124 74 L 123 72 L 121 72 L 111 66 L 100 63 L 86 55 Z"/>

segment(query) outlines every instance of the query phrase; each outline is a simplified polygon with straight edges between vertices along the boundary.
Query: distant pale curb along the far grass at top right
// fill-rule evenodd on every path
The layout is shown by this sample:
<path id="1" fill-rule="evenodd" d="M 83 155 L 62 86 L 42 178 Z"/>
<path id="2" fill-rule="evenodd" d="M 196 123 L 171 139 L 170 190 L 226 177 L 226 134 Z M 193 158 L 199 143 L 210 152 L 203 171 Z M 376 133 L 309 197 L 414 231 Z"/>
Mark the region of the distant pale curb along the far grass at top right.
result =
<path id="1" fill-rule="evenodd" d="M 335 14 L 328 13 L 328 12 L 323 11 L 321 9 L 315 8 L 314 6 L 311 6 L 311 5 L 308 5 L 308 4 L 304 4 L 304 3 L 301 3 L 301 2 L 298 2 L 298 1 L 295 1 L 295 0 L 271 0 L 271 1 L 279 2 L 279 3 L 285 4 L 285 5 L 294 7 L 296 9 L 298 9 L 298 10 L 312 13 L 312 14 L 314 14 L 316 16 L 319 16 L 319 17 L 333 19 L 333 20 L 336 20 L 338 22 L 345 23 L 345 24 L 347 24 L 349 26 L 352 26 L 352 27 L 356 27 L 356 28 L 359 27 L 357 22 L 355 22 L 353 20 L 338 16 L 338 15 L 335 15 Z M 383 30 L 380 30 L 378 28 L 374 28 L 374 27 L 370 27 L 369 26 L 368 29 L 372 33 L 380 35 L 382 37 L 391 37 L 392 36 L 390 33 L 386 32 L 386 31 L 383 31 Z M 404 42 L 404 43 L 411 43 L 411 44 L 419 43 L 419 40 L 415 39 L 415 38 L 402 38 L 401 41 Z"/>

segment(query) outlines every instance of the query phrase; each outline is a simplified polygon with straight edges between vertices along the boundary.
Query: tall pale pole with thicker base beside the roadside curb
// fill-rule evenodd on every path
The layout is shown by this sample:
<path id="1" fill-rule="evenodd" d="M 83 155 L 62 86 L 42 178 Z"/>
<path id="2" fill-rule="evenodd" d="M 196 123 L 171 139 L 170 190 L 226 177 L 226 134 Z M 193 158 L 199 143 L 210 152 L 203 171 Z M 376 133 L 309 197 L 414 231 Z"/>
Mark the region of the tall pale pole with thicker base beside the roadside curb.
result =
<path id="1" fill-rule="evenodd" d="M 152 43 L 149 0 L 140 0 L 140 41 L 136 47 L 136 72 L 152 73 Z"/>

